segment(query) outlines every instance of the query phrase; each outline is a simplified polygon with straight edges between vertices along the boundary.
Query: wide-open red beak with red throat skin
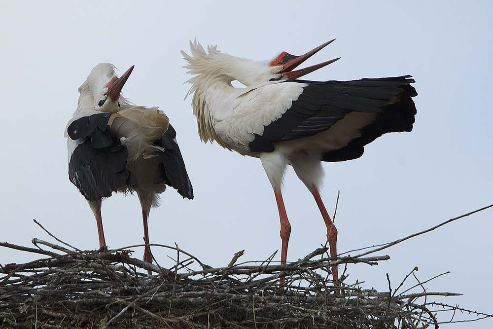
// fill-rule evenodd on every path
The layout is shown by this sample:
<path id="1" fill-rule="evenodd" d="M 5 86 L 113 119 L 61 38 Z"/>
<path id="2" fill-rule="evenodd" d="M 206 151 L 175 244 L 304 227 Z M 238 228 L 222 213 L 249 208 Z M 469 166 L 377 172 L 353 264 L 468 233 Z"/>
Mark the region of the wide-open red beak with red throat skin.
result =
<path id="1" fill-rule="evenodd" d="M 317 48 L 310 50 L 309 52 L 301 56 L 291 55 L 284 51 L 281 53 L 281 55 L 279 55 L 275 60 L 273 60 L 270 63 L 270 66 L 282 65 L 282 70 L 280 73 L 291 80 L 299 78 L 300 76 L 306 75 L 308 73 L 314 72 L 315 70 L 318 70 L 326 65 L 329 65 L 330 63 L 334 63 L 341 57 L 317 65 L 309 66 L 308 68 L 304 68 L 301 70 L 297 70 L 297 71 L 293 71 L 293 70 L 296 69 L 296 67 L 298 67 L 301 63 L 312 57 L 312 55 L 317 53 L 320 49 L 322 49 L 323 47 L 325 47 L 326 45 L 328 45 L 334 40 L 335 39 L 327 41 L 324 44 L 319 45 Z"/>

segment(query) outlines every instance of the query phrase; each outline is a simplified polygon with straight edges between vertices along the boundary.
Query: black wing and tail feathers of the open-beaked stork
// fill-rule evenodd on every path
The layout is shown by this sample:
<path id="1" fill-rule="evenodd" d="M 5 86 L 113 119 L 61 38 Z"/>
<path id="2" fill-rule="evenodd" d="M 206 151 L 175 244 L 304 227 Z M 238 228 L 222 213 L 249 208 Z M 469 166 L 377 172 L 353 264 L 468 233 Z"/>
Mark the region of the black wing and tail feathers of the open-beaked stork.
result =
<path id="1" fill-rule="evenodd" d="M 363 154 L 363 146 L 387 132 L 411 131 L 417 95 L 410 75 L 352 81 L 305 81 L 307 86 L 278 120 L 264 126 L 249 143 L 252 152 L 274 150 L 273 143 L 310 137 L 328 130 L 351 112 L 376 113 L 375 121 L 361 129 L 361 137 L 324 155 L 324 161 L 345 161 Z M 393 104 L 390 104 L 392 103 Z"/>

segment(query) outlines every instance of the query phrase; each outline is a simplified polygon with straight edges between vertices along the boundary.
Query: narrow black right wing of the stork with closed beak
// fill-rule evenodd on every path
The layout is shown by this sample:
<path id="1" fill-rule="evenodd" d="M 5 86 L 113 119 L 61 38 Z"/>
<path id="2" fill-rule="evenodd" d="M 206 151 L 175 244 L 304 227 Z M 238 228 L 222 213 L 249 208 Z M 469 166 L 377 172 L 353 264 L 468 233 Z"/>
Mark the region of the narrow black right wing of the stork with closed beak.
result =
<path id="1" fill-rule="evenodd" d="M 193 199 L 192 183 L 188 178 L 185 162 L 176 142 L 176 131 L 171 124 L 157 145 L 161 146 L 164 150 L 158 151 L 161 157 L 161 163 L 154 178 L 154 183 L 164 182 L 176 188 L 182 197 Z"/>

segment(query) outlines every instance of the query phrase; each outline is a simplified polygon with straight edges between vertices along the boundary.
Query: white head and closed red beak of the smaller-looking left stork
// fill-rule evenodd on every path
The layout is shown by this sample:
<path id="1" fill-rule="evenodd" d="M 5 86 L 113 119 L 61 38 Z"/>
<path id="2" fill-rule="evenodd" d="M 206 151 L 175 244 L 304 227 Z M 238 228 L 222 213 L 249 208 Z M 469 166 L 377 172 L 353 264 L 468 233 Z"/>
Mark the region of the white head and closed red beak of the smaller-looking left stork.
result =
<path id="1" fill-rule="evenodd" d="M 117 77 L 115 67 L 112 64 L 100 63 L 96 65 L 79 87 L 80 96 L 77 111 L 117 112 L 122 103 L 128 103 L 121 96 L 121 91 L 133 69 L 134 66 L 131 66 L 122 76 Z"/>

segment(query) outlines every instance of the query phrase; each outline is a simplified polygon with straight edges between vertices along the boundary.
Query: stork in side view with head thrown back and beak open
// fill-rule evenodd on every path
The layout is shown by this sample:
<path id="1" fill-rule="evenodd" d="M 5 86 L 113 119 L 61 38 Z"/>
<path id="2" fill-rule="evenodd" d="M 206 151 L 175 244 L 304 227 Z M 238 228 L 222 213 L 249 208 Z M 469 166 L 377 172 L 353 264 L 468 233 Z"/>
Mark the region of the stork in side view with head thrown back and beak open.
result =
<path id="1" fill-rule="evenodd" d="M 321 161 L 346 161 L 363 154 L 364 146 L 388 132 L 413 129 L 416 90 L 410 75 L 353 81 L 305 81 L 298 77 L 337 59 L 302 70 L 298 65 L 328 41 L 302 56 L 282 52 L 272 61 L 251 61 L 206 52 L 196 40 L 192 56 L 182 51 L 194 75 L 193 113 L 200 139 L 260 158 L 274 189 L 281 220 L 281 263 L 286 262 L 291 225 L 282 200 L 282 177 L 292 165 L 315 197 L 327 229 L 330 255 L 337 256 L 337 230 L 319 194 Z M 234 87 L 238 80 L 245 88 Z M 186 98 L 186 97 L 185 97 Z M 338 279 L 333 266 L 334 280 Z"/>

